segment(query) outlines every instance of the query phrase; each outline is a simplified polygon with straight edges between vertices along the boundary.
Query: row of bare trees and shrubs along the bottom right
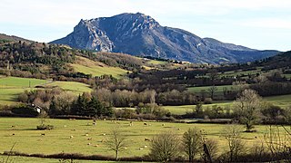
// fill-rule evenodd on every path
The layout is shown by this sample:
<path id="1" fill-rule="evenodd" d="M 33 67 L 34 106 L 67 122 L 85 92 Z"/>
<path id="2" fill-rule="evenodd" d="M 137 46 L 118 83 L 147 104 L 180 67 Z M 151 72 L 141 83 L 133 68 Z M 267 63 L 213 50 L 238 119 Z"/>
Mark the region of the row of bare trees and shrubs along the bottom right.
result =
<path id="1" fill-rule="evenodd" d="M 206 133 L 200 129 L 188 129 L 182 138 L 172 131 L 163 131 L 152 139 L 149 156 L 158 162 L 291 161 L 291 135 L 288 129 L 282 132 L 277 126 L 269 126 L 264 138 L 249 148 L 241 132 L 240 126 L 227 125 L 222 130 L 222 138 L 226 140 L 226 146 L 222 149 L 216 140 L 207 139 Z"/>

